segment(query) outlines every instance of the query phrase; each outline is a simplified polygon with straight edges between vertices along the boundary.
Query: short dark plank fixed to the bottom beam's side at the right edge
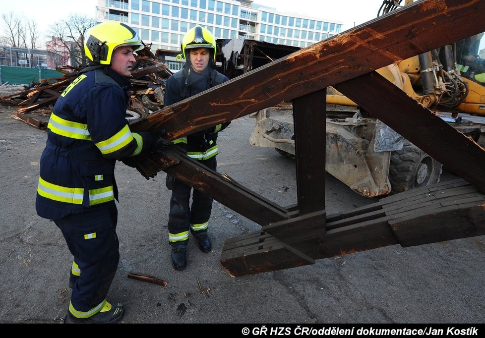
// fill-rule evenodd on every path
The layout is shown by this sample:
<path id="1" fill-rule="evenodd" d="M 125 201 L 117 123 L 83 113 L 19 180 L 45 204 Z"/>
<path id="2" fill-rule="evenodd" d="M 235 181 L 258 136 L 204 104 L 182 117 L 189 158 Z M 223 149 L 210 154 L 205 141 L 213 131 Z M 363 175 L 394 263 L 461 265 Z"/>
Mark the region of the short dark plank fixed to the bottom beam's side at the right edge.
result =
<path id="1" fill-rule="evenodd" d="M 454 205 L 390 220 L 389 225 L 403 247 L 479 236 L 485 234 L 484 209 L 484 201 Z"/>

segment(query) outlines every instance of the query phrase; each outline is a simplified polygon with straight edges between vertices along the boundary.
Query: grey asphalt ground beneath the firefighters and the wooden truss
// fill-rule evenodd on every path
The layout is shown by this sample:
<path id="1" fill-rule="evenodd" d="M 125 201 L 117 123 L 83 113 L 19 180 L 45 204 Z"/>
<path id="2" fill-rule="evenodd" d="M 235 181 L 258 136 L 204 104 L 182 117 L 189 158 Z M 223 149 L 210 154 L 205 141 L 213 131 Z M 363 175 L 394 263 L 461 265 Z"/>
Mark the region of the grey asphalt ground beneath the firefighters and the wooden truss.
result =
<path id="1" fill-rule="evenodd" d="M 287 206 L 296 203 L 295 163 L 249 145 L 254 120 L 220 133 L 218 171 Z M 68 323 L 72 256 L 61 231 L 35 212 L 46 132 L 0 106 L 0 323 Z M 417 247 L 399 245 L 318 260 L 316 264 L 232 278 L 219 263 L 224 242 L 260 228 L 214 202 L 213 249 L 188 245 L 188 266 L 170 264 L 165 173 L 145 180 L 116 167 L 120 264 L 108 300 L 125 305 L 122 323 L 484 323 L 485 237 Z M 445 175 L 444 175 L 445 176 Z M 450 176 L 452 177 L 452 175 Z M 443 179 L 446 179 L 444 177 Z M 374 203 L 327 174 L 333 214 Z M 128 279 L 151 275 L 167 286 Z M 198 288 L 210 287 L 209 295 Z"/>

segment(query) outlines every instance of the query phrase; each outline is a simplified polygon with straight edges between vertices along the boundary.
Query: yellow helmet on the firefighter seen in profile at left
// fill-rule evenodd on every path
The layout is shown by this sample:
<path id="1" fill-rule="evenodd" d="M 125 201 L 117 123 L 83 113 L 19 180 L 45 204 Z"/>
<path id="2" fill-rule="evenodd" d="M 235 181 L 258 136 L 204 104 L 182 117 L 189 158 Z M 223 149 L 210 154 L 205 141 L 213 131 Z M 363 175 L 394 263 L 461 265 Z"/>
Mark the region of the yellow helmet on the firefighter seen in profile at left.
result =
<path id="1" fill-rule="evenodd" d="M 145 47 L 131 27 L 121 22 L 107 21 L 89 30 L 84 52 L 91 62 L 110 64 L 113 51 L 121 46 L 133 46 L 133 52 Z"/>

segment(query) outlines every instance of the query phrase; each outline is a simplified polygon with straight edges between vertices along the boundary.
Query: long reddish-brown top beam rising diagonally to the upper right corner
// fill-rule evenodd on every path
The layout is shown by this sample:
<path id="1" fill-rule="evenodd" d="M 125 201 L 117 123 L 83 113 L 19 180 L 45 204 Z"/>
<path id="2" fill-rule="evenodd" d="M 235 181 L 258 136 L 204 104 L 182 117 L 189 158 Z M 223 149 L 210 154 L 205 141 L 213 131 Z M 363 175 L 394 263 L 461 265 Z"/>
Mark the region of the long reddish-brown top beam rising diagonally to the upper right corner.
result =
<path id="1" fill-rule="evenodd" d="M 131 129 L 164 128 L 169 140 L 205 130 L 483 32 L 484 13 L 484 1 L 418 1 L 133 121 Z M 460 29 L 443 30 L 450 17 Z M 147 173 L 159 171 L 147 154 L 139 162 Z"/>

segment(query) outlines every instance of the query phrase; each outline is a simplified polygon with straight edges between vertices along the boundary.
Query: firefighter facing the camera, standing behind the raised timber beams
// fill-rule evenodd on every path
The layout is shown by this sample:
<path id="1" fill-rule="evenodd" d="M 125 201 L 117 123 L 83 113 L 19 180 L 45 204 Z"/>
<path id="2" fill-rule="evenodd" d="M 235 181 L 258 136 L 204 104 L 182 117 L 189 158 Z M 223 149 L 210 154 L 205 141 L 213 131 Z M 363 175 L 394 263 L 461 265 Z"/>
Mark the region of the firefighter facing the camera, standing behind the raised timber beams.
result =
<path id="1" fill-rule="evenodd" d="M 167 80 L 165 104 L 172 105 L 192 95 L 219 85 L 228 78 L 215 68 L 216 41 L 214 36 L 201 26 L 191 28 L 182 39 L 182 57 L 186 60 L 181 71 Z M 216 170 L 217 133 L 227 127 L 218 124 L 202 132 L 197 132 L 174 140 L 190 158 L 206 167 Z M 184 270 L 187 264 L 186 247 L 189 231 L 195 237 L 202 252 L 211 251 L 212 245 L 207 235 L 212 199 L 193 189 L 171 175 L 167 175 L 167 188 L 172 190 L 168 221 L 169 242 L 172 247 L 172 265 L 176 270 Z"/>

